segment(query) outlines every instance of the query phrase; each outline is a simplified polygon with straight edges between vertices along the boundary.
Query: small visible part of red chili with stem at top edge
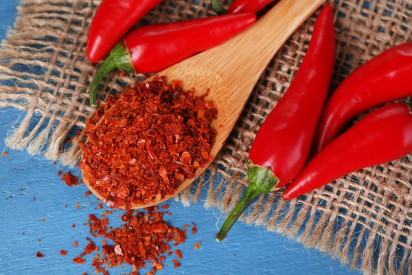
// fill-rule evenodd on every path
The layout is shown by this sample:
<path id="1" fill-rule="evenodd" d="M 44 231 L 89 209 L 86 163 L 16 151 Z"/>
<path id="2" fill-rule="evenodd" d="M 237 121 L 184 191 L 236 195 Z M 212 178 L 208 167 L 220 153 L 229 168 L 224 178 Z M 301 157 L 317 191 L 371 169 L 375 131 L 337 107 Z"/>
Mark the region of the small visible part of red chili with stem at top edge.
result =
<path id="1" fill-rule="evenodd" d="M 266 5 L 274 2 L 275 0 L 234 0 L 230 5 L 227 13 L 236 12 L 259 12 Z M 222 5 L 220 5 L 220 0 L 211 0 L 211 6 L 217 14 L 223 14 Z"/>

